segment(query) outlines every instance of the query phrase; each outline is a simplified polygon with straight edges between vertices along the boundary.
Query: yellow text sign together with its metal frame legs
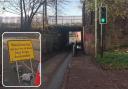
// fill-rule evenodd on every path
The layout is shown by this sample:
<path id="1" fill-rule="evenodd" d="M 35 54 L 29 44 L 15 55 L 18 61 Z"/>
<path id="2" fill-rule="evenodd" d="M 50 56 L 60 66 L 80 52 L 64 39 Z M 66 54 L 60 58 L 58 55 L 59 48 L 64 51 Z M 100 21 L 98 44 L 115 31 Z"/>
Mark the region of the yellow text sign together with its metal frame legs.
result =
<path id="1" fill-rule="evenodd" d="M 34 50 L 32 47 L 31 40 L 9 40 L 8 49 L 10 56 L 10 63 L 16 63 L 16 71 L 18 76 L 19 84 L 21 84 L 20 74 L 19 74 L 19 65 L 18 62 L 22 63 L 32 72 L 34 75 L 32 60 L 34 60 Z M 24 61 L 30 62 L 30 68 L 24 63 Z M 33 76 L 34 77 L 34 76 Z"/>

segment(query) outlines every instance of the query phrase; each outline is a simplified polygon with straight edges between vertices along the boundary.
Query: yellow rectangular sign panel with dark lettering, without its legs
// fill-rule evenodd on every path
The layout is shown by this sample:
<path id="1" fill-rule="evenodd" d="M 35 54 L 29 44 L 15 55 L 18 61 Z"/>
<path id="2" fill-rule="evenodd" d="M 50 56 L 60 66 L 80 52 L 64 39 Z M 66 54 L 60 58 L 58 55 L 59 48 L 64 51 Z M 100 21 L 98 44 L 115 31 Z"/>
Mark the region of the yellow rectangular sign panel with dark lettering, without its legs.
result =
<path id="1" fill-rule="evenodd" d="M 34 59 L 31 40 L 9 40 L 10 62 Z"/>

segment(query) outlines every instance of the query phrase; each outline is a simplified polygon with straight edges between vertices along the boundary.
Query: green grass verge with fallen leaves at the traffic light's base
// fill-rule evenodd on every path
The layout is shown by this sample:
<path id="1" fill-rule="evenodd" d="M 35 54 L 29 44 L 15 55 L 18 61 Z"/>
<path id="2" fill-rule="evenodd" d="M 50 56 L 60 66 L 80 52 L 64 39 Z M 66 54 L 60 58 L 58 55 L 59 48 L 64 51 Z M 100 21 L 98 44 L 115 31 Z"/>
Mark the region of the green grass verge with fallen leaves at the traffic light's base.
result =
<path id="1" fill-rule="evenodd" d="M 98 55 L 96 61 L 103 69 L 128 69 L 128 53 L 125 52 L 104 52 L 103 58 Z"/>

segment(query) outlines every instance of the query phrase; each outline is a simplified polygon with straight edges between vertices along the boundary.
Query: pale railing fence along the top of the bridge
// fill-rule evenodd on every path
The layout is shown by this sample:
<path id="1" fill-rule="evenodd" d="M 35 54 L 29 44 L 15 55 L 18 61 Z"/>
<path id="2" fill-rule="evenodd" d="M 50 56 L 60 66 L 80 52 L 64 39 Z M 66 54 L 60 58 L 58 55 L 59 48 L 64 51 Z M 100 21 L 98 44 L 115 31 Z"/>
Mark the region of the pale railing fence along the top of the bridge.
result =
<path id="1" fill-rule="evenodd" d="M 0 17 L 0 24 L 12 24 L 20 26 L 20 17 Z M 49 25 L 55 25 L 56 19 L 55 16 L 48 16 Z M 42 16 L 35 16 L 33 18 L 33 24 L 43 24 Z M 58 16 L 57 17 L 58 25 L 82 25 L 82 16 Z"/>

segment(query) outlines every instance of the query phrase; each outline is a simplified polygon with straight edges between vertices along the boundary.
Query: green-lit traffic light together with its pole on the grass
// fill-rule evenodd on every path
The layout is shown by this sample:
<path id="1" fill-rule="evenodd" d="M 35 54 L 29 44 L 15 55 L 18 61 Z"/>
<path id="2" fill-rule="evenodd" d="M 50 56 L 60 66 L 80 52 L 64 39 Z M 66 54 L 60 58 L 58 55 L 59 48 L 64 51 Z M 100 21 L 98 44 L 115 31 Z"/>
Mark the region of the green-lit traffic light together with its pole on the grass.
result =
<path id="1" fill-rule="evenodd" d="M 107 24 L 107 7 L 106 6 L 102 6 L 100 7 L 99 10 L 99 20 L 100 20 L 100 24 L 101 24 L 101 41 L 100 41 L 100 45 L 101 45 L 101 57 L 103 57 L 103 51 L 104 51 L 104 47 L 103 47 L 103 41 L 104 41 L 104 32 L 105 32 L 105 25 Z"/>

